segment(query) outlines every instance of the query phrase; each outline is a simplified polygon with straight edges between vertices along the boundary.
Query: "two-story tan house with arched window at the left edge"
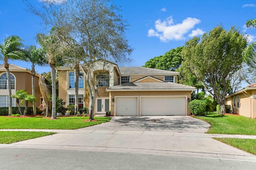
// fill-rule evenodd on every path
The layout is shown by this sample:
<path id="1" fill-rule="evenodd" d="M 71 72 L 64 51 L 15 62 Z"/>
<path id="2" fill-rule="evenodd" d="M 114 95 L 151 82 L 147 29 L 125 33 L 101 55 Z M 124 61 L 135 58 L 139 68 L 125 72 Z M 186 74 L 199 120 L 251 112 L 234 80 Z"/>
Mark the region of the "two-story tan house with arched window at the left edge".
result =
<path id="1" fill-rule="evenodd" d="M 11 87 L 12 95 L 16 94 L 18 90 L 26 90 L 28 94 L 32 95 L 32 76 L 28 69 L 20 67 L 18 65 L 9 64 L 9 70 L 11 75 Z M 35 93 L 36 93 L 36 107 L 40 105 L 40 89 L 38 85 L 39 75 L 35 76 Z M 7 75 L 4 65 L 0 65 L 0 107 L 8 107 L 8 85 Z M 12 106 L 18 107 L 16 100 L 12 99 Z M 22 105 L 21 105 L 22 106 Z M 28 104 L 28 107 L 32 107 L 32 103 Z"/>

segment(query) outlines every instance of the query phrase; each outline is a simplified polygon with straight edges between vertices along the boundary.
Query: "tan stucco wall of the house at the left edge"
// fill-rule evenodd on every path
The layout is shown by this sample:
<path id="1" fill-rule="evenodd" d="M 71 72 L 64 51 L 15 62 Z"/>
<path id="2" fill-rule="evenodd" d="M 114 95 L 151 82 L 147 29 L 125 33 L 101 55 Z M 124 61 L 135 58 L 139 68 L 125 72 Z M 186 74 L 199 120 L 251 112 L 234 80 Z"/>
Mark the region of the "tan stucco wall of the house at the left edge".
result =
<path id="1" fill-rule="evenodd" d="M 2 73 L 6 73 L 6 71 L 0 71 L 0 75 L 2 75 Z M 10 71 L 10 73 L 12 73 L 15 77 L 16 91 L 26 90 L 29 95 L 32 95 L 32 76 L 31 76 L 31 74 L 28 73 L 27 71 Z M 39 81 L 39 77 L 35 76 L 36 107 L 38 107 L 40 105 L 40 97 L 42 97 L 41 93 L 40 93 L 38 81 Z M 12 94 L 15 94 L 15 93 L 16 92 L 12 90 Z M 1 95 L 2 94 L 8 95 L 8 90 L 7 89 L 1 89 L 0 94 Z M 15 106 L 18 107 L 16 105 L 16 102 L 15 102 Z M 32 107 L 32 103 L 28 103 L 28 107 Z"/>

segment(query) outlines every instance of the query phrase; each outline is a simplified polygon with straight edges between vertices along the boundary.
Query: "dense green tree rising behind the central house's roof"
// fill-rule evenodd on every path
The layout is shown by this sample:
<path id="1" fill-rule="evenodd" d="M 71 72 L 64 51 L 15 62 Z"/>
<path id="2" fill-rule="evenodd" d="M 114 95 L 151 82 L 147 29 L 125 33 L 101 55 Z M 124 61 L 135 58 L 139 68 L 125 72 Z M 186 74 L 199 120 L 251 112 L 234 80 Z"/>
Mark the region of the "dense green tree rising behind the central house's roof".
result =
<path id="1" fill-rule="evenodd" d="M 166 53 L 164 53 L 164 55 L 160 55 L 158 57 L 154 57 L 146 61 L 143 67 L 176 71 L 176 69 L 178 69 L 181 66 L 182 49 L 183 49 L 183 46 L 171 49 L 170 51 L 167 51 Z"/>

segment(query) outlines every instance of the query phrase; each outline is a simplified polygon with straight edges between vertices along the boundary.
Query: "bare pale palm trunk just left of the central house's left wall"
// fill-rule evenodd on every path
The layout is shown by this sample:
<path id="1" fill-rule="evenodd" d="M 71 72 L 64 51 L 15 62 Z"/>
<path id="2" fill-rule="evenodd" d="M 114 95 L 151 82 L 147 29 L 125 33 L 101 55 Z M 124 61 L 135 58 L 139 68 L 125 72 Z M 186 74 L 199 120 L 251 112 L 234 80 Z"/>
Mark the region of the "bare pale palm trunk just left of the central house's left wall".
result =
<path id="1" fill-rule="evenodd" d="M 56 70 L 55 65 L 50 65 L 52 75 L 52 119 L 56 119 Z"/>

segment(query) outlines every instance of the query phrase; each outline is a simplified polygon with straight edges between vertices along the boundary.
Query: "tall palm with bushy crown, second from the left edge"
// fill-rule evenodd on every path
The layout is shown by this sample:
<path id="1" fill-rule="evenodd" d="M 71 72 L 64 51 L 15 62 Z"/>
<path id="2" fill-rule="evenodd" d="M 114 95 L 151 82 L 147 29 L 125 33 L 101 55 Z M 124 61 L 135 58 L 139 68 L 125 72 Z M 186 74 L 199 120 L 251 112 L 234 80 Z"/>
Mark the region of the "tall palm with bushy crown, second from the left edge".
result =
<path id="1" fill-rule="evenodd" d="M 32 75 L 32 95 L 35 94 L 35 66 L 44 66 L 47 64 L 45 59 L 45 51 L 42 48 L 36 48 L 35 45 L 30 45 L 26 50 L 26 60 L 32 63 L 31 75 Z M 33 101 L 33 115 L 36 115 L 36 103 Z"/>

